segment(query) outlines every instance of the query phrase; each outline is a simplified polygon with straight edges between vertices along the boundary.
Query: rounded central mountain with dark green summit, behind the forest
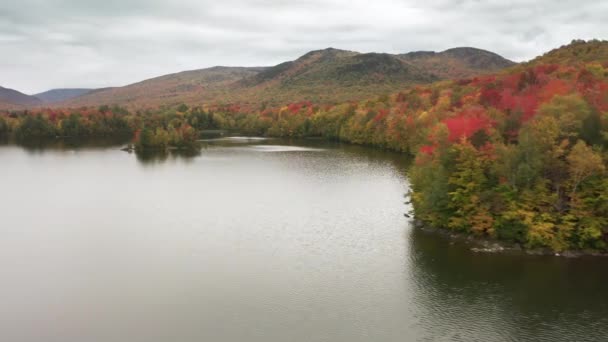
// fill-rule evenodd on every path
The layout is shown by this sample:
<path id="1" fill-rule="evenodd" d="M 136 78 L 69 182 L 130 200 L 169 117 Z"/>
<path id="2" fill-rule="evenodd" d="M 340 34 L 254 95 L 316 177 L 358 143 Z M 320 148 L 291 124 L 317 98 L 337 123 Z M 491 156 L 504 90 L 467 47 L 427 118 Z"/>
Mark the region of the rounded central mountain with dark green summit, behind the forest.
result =
<path id="1" fill-rule="evenodd" d="M 395 55 L 329 48 L 268 68 L 235 88 L 242 100 L 339 102 L 436 80 L 434 74 Z"/>

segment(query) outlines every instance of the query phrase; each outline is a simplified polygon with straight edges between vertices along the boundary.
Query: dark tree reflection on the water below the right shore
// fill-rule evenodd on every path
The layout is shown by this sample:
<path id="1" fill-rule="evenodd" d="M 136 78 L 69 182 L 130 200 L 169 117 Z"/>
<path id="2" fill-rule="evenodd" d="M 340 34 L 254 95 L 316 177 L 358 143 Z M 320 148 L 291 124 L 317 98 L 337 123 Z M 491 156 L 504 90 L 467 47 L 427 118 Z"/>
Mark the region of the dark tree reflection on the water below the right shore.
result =
<path id="1" fill-rule="evenodd" d="M 418 229 L 409 241 L 416 311 L 433 336 L 574 341 L 608 333 L 608 260 L 480 254 Z"/>

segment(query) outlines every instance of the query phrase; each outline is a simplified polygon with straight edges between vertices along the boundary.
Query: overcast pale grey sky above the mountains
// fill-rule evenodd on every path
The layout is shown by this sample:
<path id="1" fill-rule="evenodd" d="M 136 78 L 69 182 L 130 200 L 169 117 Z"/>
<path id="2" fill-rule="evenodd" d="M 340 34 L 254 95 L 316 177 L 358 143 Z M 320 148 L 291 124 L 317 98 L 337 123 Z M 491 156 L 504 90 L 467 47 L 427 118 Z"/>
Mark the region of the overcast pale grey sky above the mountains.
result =
<path id="1" fill-rule="evenodd" d="M 0 86 L 122 86 L 327 47 L 471 46 L 524 61 L 572 39 L 608 39 L 606 18 L 604 0 L 2 0 Z"/>

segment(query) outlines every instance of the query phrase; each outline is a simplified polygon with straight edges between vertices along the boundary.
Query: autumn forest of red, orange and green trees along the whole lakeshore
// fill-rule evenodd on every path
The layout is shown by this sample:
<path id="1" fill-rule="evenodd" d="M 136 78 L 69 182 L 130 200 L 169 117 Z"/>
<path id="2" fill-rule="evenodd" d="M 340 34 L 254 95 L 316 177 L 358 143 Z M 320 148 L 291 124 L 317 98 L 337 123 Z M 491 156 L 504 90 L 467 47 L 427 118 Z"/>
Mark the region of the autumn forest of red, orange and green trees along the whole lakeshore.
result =
<path id="1" fill-rule="evenodd" d="M 239 105 L 0 114 L 0 136 L 133 135 L 196 148 L 197 132 L 321 136 L 415 157 L 416 218 L 554 251 L 608 251 L 607 42 L 575 41 L 502 73 L 341 105 Z"/>

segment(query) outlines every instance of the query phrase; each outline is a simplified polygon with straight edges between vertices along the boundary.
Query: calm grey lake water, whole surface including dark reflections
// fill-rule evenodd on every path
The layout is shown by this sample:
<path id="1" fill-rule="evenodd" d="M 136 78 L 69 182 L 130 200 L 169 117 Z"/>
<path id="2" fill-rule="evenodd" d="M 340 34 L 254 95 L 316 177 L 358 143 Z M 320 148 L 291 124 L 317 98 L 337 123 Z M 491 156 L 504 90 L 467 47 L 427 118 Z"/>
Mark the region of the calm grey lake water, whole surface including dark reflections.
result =
<path id="1" fill-rule="evenodd" d="M 205 145 L 0 146 L 0 340 L 608 339 L 608 260 L 413 229 L 401 155 Z"/>

